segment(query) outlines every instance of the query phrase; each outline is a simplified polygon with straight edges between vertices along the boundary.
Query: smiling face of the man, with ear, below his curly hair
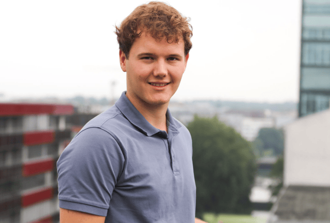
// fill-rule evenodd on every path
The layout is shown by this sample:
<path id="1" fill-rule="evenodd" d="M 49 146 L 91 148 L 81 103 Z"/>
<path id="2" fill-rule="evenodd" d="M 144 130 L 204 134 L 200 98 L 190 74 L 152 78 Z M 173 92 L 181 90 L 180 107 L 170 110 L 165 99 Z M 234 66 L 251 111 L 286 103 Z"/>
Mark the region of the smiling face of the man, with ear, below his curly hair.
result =
<path id="1" fill-rule="evenodd" d="M 135 106 L 168 105 L 177 91 L 189 55 L 184 42 L 156 41 L 142 32 L 130 49 L 129 57 L 120 51 L 120 66 L 126 71 L 127 98 Z"/>

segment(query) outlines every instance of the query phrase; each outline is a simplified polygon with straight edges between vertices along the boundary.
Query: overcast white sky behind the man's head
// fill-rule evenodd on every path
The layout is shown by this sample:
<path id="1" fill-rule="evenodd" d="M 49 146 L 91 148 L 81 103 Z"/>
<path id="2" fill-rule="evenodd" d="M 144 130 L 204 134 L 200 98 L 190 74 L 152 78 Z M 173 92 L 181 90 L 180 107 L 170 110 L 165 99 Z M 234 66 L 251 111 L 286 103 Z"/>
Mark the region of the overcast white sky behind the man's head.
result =
<path id="1" fill-rule="evenodd" d="M 298 101 L 301 0 L 168 0 L 191 18 L 175 99 Z M 126 89 L 114 25 L 141 0 L 0 1 L 0 93 L 110 97 Z"/>

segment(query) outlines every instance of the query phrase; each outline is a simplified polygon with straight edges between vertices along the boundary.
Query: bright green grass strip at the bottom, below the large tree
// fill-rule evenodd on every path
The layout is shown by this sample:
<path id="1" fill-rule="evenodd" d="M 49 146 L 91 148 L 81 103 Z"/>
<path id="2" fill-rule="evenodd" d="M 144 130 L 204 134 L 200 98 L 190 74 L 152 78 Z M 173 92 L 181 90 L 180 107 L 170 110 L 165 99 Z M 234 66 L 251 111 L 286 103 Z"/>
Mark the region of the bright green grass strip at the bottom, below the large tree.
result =
<path id="1" fill-rule="evenodd" d="M 251 215 L 240 214 L 204 214 L 204 219 L 208 223 L 266 223 L 262 217 L 252 217 Z"/>

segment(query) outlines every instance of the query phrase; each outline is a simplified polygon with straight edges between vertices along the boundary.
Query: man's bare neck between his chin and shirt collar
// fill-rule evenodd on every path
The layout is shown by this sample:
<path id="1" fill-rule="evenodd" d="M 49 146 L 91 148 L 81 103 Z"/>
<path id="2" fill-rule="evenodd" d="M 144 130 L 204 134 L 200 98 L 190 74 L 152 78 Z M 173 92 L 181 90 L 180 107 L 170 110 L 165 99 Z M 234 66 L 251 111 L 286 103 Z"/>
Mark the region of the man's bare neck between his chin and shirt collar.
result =
<path id="1" fill-rule="evenodd" d="M 128 98 L 128 97 L 127 97 Z M 128 98 L 129 100 L 129 98 Z M 167 131 L 167 119 L 166 112 L 169 103 L 153 105 L 147 103 L 136 103 L 135 101 L 129 100 L 136 109 L 141 113 L 141 115 L 155 128 Z"/>

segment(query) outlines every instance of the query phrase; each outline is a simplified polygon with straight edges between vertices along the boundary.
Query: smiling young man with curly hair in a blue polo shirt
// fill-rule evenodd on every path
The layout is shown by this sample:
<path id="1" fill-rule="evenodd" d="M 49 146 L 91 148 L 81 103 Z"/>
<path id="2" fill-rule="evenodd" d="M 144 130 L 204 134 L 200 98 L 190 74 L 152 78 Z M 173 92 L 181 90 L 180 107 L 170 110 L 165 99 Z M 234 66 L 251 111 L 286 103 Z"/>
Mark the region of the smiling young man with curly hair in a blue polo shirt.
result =
<path id="1" fill-rule="evenodd" d="M 158 2 L 116 27 L 127 91 L 60 156 L 61 223 L 194 222 L 191 136 L 168 110 L 189 58 L 190 27 Z"/>

